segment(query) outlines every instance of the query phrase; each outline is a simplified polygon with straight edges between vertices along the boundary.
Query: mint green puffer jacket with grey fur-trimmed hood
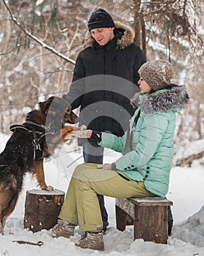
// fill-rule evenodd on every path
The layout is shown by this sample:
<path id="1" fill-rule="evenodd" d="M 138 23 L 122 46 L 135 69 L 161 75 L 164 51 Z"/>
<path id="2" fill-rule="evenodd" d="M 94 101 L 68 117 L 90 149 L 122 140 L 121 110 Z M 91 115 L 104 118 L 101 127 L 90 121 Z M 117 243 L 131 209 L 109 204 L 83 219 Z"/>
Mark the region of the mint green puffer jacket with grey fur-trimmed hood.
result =
<path id="1" fill-rule="evenodd" d="M 132 104 L 138 108 L 130 121 L 131 143 L 126 141 L 130 138 L 128 130 L 122 137 L 106 132 L 101 135 L 100 146 L 123 154 L 116 161 L 117 170 L 134 181 L 144 181 L 146 189 L 160 197 L 168 192 L 176 112 L 184 108 L 188 100 L 185 87 L 173 84 L 169 89 L 152 94 L 138 93 L 132 99 Z M 139 110 L 141 113 L 134 127 Z"/>

